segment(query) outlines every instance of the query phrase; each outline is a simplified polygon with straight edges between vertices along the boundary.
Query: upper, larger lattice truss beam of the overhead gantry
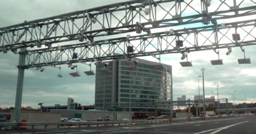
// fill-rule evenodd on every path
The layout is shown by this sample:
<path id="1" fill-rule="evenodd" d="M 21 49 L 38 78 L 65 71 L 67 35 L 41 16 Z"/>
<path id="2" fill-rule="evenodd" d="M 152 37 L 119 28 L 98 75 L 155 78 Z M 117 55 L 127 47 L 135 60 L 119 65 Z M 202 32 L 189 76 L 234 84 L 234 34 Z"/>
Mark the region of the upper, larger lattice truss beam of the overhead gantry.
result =
<path id="1" fill-rule="evenodd" d="M 81 38 L 81 34 L 91 40 L 95 37 L 138 32 L 138 29 L 141 30 L 141 26 L 153 29 L 180 25 L 179 23 L 202 22 L 209 24 L 217 17 L 225 19 L 255 14 L 256 7 L 242 6 L 242 3 L 245 2 L 238 5 L 236 5 L 236 1 L 234 3 L 221 0 L 214 2 L 218 6 L 208 7 L 209 3 L 205 0 L 201 2 L 137 0 L 25 21 L 0 28 L 0 44 L 2 45 L 0 51 L 14 51 L 22 47 L 41 47 L 41 45 L 50 47 L 55 43 L 78 40 Z M 201 3 L 201 8 L 194 8 L 195 6 L 199 7 L 199 3 Z M 250 1 L 250 4 L 256 5 L 253 1 Z M 223 6 L 229 10 L 222 10 Z M 193 15 L 185 14 L 189 11 L 192 11 Z M 243 13 L 239 14 L 239 11 Z M 235 14 L 227 16 L 228 12 Z M 166 23 L 172 23 L 172 25 L 166 25 Z"/>

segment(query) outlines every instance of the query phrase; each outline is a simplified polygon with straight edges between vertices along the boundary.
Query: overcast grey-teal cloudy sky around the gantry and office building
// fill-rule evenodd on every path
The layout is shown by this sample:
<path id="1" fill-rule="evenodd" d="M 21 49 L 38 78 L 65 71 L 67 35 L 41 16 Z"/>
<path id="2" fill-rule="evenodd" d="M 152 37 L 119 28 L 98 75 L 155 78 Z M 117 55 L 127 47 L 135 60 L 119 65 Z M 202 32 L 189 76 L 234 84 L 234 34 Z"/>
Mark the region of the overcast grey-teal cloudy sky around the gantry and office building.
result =
<path id="1" fill-rule="evenodd" d="M 94 0 L 94 1 L 67 1 L 67 0 L 0 0 L 0 27 L 21 23 L 25 20 L 35 20 L 50 16 L 60 15 L 71 11 L 83 10 L 92 7 L 123 2 L 120 0 Z M 231 1 L 230 1 L 231 2 Z M 230 56 L 226 56 L 226 49 L 220 50 L 220 58 L 224 65 L 211 65 L 210 60 L 218 56 L 212 50 L 190 52 L 189 61 L 193 67 L 182 68 L 179 64 L 180 54 L 161 56 L 161 62 L 173 66 L 173 97 L 174 100 L 181 95 L 193 99 L 198 95 L 198 76 L 202 75 L 201 68 L 205 68 L 205 96 L 217 95 L 216 86 L 219 87 L 219 97 L 233 101 L 232 93 L 236 91 L 236 103 L 247 101 L 256 102 L 256 46 L 246 48 L 246 57 L 251 58 L 251 64 L 238 64 L 237 59 L 243 58 L 240 48 L 233 48 Z M 144 57 L 154 60 L 152 57 Z M 15 104 L 16 84 L 18 69 L 18 55 L 11 52 L 0 53 L 0 106 L 13 106 Z M 81 65 L 82 66 L 82 65 Z M 92 66 L 95 70 L 95 66 Z M 83 65 L 80 72 L 89 70 Z M 44 105 L 67 104 L 67 98 L 75 99 L 82 105 L 94 104 L 95 76 L 81 75 L 71 77 L 70 69 L 62 68 L 63 78 L 58 78 L 57 69 L 46 68 L 44 72 L 29 69 L 25 71 L 23 85 L 23 106 L 38 108 L 38 103 Z M 202 77 L 200 78 L 200 93 L 202 95 Z"/>

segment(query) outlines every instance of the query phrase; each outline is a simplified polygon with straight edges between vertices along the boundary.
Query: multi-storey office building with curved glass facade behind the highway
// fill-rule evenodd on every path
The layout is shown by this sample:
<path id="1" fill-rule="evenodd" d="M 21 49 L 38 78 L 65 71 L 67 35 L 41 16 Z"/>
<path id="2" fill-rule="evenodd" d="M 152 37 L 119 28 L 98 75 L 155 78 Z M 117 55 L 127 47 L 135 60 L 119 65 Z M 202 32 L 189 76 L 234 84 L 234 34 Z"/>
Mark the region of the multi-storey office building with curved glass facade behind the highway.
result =
<path id="1" fill-rule="evenodd" d="M 172 101 L 172 66 L 142 59 L 138 63 L 126 59 L 96 65 L 95 109 L 113 109 L 113 104 Z M 137 71 L 130 71 L 137 66 Z M 108 70 L 108 71 L 107 71 Z M 104 96 L 105 94 L 105 96 Z M 105 100 L 105 101 L 104 101 Z M 129 106 L 119 106 L 118 111 L 129 111 Z M 132 107 L 132 112 L 154 112 L 152 108 Z M 169 112 L 162 109 L 161 112 Z"/>

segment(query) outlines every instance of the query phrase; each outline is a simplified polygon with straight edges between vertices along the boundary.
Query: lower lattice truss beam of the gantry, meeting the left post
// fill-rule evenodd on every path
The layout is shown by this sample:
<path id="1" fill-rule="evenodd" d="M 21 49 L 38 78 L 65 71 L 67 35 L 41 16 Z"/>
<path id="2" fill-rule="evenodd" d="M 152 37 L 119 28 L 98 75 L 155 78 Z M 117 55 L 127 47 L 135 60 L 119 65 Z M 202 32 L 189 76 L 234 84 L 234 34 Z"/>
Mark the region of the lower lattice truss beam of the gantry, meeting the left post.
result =
<path id="1" fill-rule="evenodd" d="M 185 53 L 191 51 L 214 50 L 230 47 L 255 45 L 256 20 L 239 21 L 223 24 L 202 26 L 198 28 L 174 30 L 173 33 L 159 32 L 152 35 L 118 37 L 96 41 L 97 45 L 87 43 L 26 51 L 27 63 L 22 68 L 69 64 L 78 62 L 94 62 L 95 60 L 112 60 L 163 55 L 167 53 Z M 234 40 L 232 34 L 240 31 L 240 39 Z M 243 35 L 242 35 L 243 34 Z M 199 41 L 200 38 L 200 41 Z M 240 41 L 238 41 L 240 40 Z M 183 41 L 183 46 L 177 46 Z M 127 47 L 133 46 L 133 52 Z M 77 58 L 73 57 L 77 53 Z M 116 53 L 120 53 L 117 55 Z M 217 53 L 217 52 L 216 52 Z"/>

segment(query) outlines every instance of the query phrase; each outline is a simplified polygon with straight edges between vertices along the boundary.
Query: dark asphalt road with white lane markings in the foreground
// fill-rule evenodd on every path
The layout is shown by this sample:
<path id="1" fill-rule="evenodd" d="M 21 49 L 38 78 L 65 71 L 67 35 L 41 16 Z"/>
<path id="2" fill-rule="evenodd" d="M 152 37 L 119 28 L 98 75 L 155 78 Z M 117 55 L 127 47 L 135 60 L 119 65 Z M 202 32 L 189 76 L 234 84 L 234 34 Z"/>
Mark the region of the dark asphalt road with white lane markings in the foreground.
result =
<path id="1" fill-rule="evenodd" d="M 6 130 L 2 134 L 31 134 L 31 133 L 57 133 L 57 134 L 79 134 L 79 133 L 256 133 L 256 116 L 237 116 L 226 118 L 214 118 L 174 123 L 153 123 L 132 126 L 106 126 L 85 127 L 65 129 L 36 129 L 36 130 Z"/>

